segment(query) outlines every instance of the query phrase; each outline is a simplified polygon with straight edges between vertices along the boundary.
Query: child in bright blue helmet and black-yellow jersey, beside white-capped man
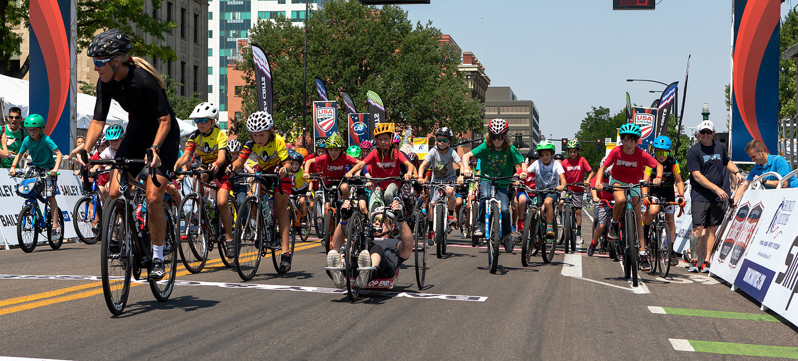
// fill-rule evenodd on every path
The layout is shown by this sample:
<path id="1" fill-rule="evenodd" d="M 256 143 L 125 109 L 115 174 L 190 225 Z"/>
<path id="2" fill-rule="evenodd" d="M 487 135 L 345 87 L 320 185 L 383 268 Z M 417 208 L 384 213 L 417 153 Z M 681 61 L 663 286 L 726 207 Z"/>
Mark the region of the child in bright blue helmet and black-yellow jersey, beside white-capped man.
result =
<path id="1" fill-rule="evenodd" d="M 654 158 L 659 164 L 662 165 L 663 168 L 662 183 L 659 187 L 643 188 L 642 190 L 643 205 L 648 209 L 648 213 L 643 216 L 643 224 L 651 224 L 651 222 L 654 221 L 654 217 L 657 216 L 657 213 L 659 212 L 659 205 L 651 204 L 651 202 L 654 202 L 655 200 L 666 202 L 676 201 L 682 207 L 684 207 L 686 204 L 685 183 L 681 181 L 681 169 L 679 169 L 679 162 L 676 161 L 676 158 L 670 155 L 671 146 L 672 143 L 670 138 L 667 136 L 659 136 L 657 139 L 654 139 Z M 646 172 L 643 174 L 644 181 L 647 182 L 650 180 L 653 170 L 654 169 L 651 167 L 646 167 Z M 678 197 L 674 194 L 674 184 L 679 192 Z M 676 223 L 674 220 L 675 208 L 676 207 L 673 205 L 669 205 L 665 211 L 665 220 L 668 224 L 668 228 L 670 228 L 671 235 L 670 245 L 672 251 L 669 257 L 671 266 L 676 266 L 679 264 L 679 259 L 673 251 L 674 235 L 676 235 Z M 648 236 L 647 232 L 644 236 Z"/>

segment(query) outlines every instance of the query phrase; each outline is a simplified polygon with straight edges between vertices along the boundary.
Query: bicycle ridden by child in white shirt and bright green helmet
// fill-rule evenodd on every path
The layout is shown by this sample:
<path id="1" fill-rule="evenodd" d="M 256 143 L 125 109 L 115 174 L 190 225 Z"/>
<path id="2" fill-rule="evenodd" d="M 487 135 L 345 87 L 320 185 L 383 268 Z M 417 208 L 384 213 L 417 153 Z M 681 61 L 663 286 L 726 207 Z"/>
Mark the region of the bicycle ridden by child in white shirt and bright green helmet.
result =
<path id="1" fill-rule="evenodd" d="M 556 188 L 532 189 L 524 184 L 519 188 L 527 191 L 527 212 L 523 216 L 523 231 L 521 232 L 521 264 L 529 265 L 529 260 L 540 252 L 543 263 L 551 264 L 555 253 L 555 239 L 546 236 L 546 213 L 543 212 L 543 201 L 548 194 L 556 194 Z M 557 228 L 556 222 L 552 226 Z M 555 229 L 556 233 L 556 229 Z"/>

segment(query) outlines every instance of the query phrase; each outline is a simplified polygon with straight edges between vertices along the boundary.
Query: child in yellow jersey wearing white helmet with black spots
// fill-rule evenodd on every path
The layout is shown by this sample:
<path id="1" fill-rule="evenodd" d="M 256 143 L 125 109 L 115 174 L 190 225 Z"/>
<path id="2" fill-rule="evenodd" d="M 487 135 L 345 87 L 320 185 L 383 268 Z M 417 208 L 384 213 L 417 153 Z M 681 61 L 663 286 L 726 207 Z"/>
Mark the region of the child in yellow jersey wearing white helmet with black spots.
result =
<path id="1" fill-rule="evenodd" d="M 288 231 L 290 220 L 288 220 L 288 195 L 291 192 L 291 182 L 288 178 L 288 169 L 290 169 L 290 161 L 288 161 L 288 149 L 286 149 L 286 140 L 279 134 L 275 133 L 272 129 L 275 125 L 275 120 L 271 117 L 270 113 L 259 111 L 251 113 L 247 117 L 247 131 L 250 133 L 250 140 L 244 144 L 239 157 L 233 162 L 233 169 L 239 170 L 247 163 L 249 157 L 255 157 L 258 161 L 258 168 L 263 173 L 276 173 L 279 181 L 272 182 L 267 179 L 261 194 L 255 195 L 259 198 L 263 196 L 267 188 L 275 189 L 275 215 L 277 216 L 277 223 L 280 231 L 280 240 L 282 240 L 282 249 L 288 248 Z M 277 187 L 282 189 L 282 192 L 277 190 Z M 290 252 L 283 252 L 280 256 L 279 273 L 283 274 L 291 269 Z"/>

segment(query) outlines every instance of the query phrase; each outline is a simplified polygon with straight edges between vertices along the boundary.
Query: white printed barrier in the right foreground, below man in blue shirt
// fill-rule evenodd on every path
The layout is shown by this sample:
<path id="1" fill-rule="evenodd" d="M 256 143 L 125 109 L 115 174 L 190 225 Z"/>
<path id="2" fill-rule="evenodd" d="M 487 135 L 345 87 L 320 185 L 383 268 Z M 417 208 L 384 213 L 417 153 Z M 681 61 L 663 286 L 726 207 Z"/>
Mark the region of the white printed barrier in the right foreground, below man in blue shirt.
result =
<path id="1" fill-rule="evenodd" d="M 798 325 L 796 201 L 798 188 L 747 190 L 716 240 L 709 272 Z"/>

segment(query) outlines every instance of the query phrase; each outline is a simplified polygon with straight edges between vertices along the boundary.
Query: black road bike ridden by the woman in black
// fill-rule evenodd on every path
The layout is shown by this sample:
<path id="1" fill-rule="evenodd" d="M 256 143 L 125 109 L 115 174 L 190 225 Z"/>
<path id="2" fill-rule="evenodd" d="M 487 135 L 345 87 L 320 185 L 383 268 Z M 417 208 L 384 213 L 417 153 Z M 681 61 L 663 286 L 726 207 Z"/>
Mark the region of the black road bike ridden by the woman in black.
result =
<path id="1" fill-rule="evenodd" d="M 147 159 L 152 159 L 152 149 L 146 151 Z M 86 160 L 85 151 L 81 157 Z M 117 158 L 113 160 L 90 161 L 91 165 L 113 165 L 125 181 L 119 182 L 119 196 L 111 200 L 103 214 L 101 233 L 101 278 L 105 305 L 114 315 L 124 311 L 130 291 L 130 277 L 140 280 L 141 270 L 152 265 L 152 247 L 147 225 L 146 185 L 132 177 L 128 177 L 130 165 L 144 164 L 143 159 Z M 148 165 L 150 180 L 156 187 L 160 181 Z M 150 290 L 156 300 L 164 302 L 172 295 L 177 273 L 177 252 L 180 238 L 171 206 L 164 204 L 166 218 L 164 232 L 164 268 L 166 276 L 163 280 L 149 280 Z"/>

